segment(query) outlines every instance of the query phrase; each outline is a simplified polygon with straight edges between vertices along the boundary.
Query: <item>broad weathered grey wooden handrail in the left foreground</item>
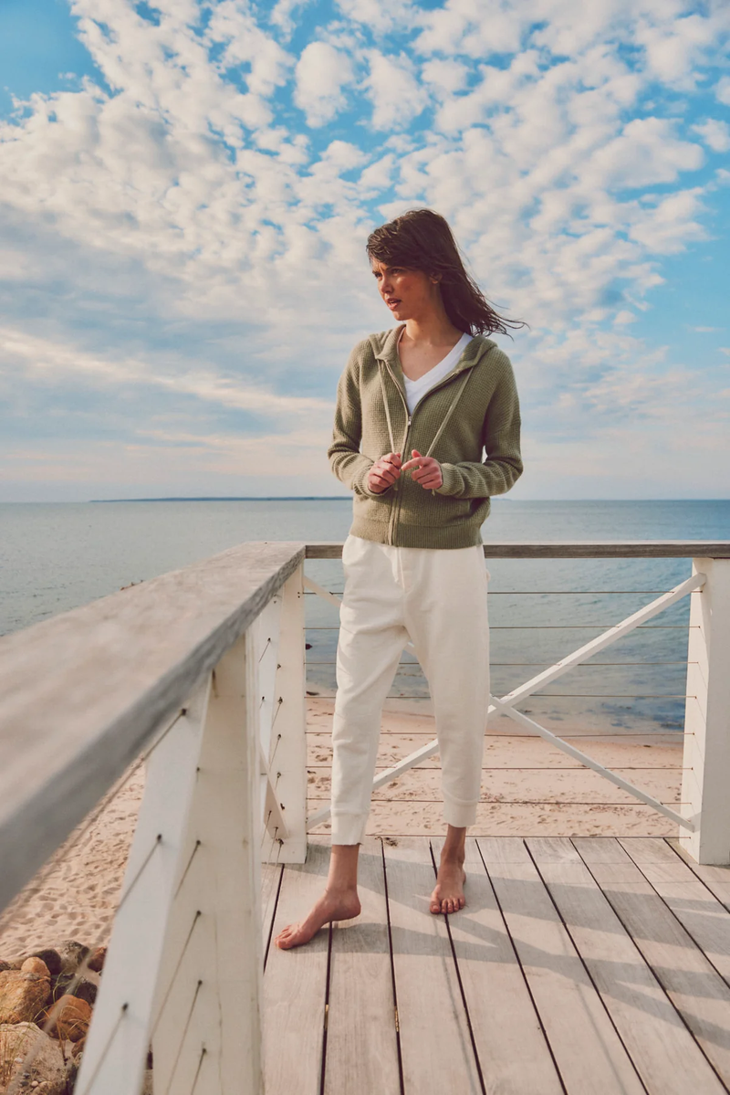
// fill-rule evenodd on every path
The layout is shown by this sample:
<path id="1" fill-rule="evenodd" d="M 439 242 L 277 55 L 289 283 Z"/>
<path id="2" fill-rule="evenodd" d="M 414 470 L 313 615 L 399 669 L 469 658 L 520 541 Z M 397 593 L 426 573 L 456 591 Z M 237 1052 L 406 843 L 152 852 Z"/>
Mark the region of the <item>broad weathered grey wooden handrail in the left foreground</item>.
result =
<path id="1" fill-rule="evenodd" d="M 0 908 L 303 557 L 244 543 L 0 639 Z"/>

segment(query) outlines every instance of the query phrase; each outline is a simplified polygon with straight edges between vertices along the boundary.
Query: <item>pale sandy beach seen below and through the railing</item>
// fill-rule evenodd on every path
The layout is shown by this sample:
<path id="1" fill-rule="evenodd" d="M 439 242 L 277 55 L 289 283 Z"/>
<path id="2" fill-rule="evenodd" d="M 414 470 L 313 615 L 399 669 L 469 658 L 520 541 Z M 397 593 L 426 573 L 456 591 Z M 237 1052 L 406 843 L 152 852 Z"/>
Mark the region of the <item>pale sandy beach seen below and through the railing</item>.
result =
<path id="1" fill-rule="evenodd" d="M 383 715 L 382 771 L 433 737 L 428 705 L 393 702 Z M 328 800 L 333 700 L 308 701 L 309 810 Z M 544 725 L 600 763 L 676 806 L 682 735 L 605 733 L 565 722 Z M 134 766 L 132 766 L 134 768 Z M 131 770 L 130 770 L 131 771 Z M 111 794 L 58 849 L 0 918 L 0 958 L 76 938 L 106 944 L 144 789 L 143 768 Z M 496 719 L 485 737 L 483 795 L 474 835 L 676 835 L 676 826 L 513 722 Z M 313 832 L 324 833 L 328 825 Z M 371 834 L 443 831 L 438 754 L 373 795 Z"/>

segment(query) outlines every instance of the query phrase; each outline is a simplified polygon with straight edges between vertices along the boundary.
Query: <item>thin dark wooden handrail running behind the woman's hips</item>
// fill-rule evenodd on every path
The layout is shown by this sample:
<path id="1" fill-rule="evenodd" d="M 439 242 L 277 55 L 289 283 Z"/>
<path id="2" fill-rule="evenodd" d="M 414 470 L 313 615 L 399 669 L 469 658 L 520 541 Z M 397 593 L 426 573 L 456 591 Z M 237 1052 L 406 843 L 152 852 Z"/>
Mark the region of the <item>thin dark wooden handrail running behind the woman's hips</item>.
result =
<path id="1" fill-rule="evenodd" d="M 306 558 L 339 558 L 340 541 L 306 544 Z M 484 544 L 485 558 L 730 558 L 730 540 L 572 540 Z"/>

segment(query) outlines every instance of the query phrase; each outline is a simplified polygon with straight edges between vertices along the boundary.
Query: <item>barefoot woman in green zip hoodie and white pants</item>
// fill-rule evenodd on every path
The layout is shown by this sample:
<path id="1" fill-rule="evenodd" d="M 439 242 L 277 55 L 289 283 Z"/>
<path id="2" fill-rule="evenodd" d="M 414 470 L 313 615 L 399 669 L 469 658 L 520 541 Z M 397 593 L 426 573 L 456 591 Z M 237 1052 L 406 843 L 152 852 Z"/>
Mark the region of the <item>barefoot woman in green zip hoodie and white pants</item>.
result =
<path id="1" fill-rule="evenodd" d="M 490 495 L 522 473 L 512 367 L 484 332 L 523 324 L 489 307 L 430 209 L 383 224 L 367 250 L 397 326 L 355 347 L 337 389 L 328 456 L 355 499 L 343 550 L 332 855 L 322 898 L 277 936 L 283 949 L 360 912 L 358 852 L 381 711 L 408 641 L 433 702 L 448 827 L 430 910 L 464 907 L 489 702 L 480 527 Z"/>

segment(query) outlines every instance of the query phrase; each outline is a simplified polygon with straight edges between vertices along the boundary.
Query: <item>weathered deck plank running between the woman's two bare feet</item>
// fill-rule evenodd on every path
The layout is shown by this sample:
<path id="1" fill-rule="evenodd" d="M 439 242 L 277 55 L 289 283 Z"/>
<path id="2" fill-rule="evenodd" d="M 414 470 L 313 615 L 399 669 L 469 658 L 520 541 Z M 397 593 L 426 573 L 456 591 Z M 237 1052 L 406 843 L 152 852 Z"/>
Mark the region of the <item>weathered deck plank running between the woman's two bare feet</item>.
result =
<path id="1" fill-rule="evenodd" d="M 393 960 L 406 1092 L 479 1095 L 451 945 L 443 917 L 429 912 L 434 885 L 428 841 L 384 844 Z"/>

